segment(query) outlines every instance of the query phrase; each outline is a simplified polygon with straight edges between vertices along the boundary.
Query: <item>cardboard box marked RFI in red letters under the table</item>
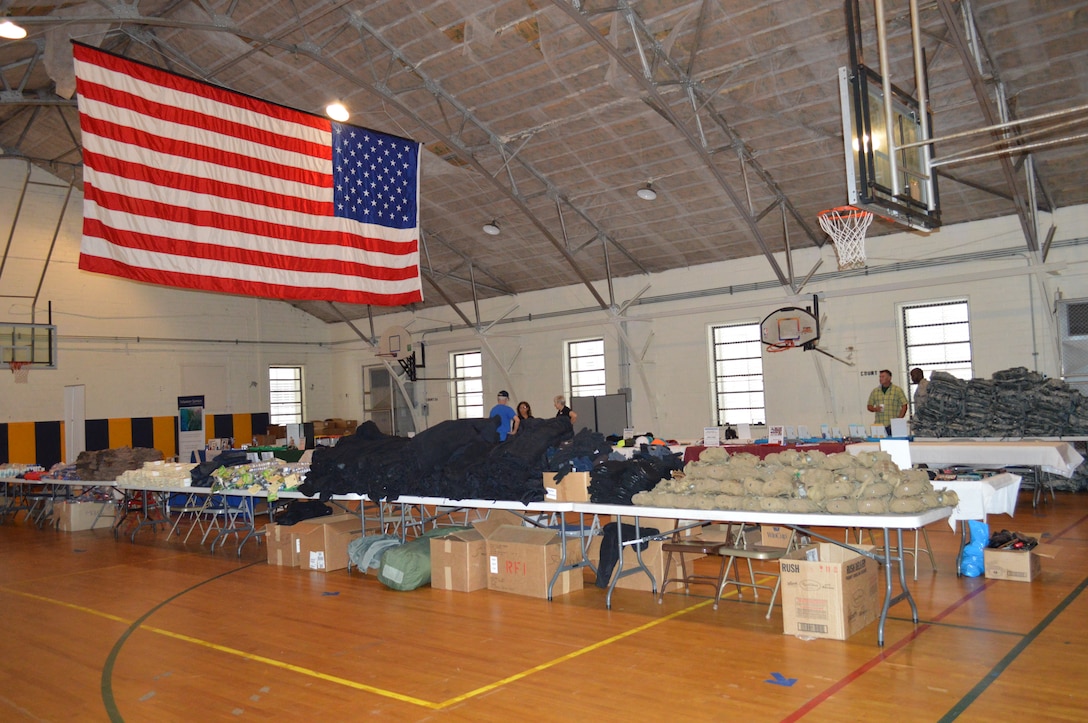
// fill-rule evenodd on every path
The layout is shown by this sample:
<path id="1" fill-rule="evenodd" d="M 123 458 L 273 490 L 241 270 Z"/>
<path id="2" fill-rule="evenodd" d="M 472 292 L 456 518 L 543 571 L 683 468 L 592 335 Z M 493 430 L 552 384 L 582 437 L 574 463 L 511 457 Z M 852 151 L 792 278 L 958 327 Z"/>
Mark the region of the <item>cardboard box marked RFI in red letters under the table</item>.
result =
<path id="1" fill-rule="evenodd" d="M 547 587 L 559 569 L 567 546 L 567 563 L 582 560 L 581 539 L 561 540 L 554 529 L 503 525 L 487 536 L 487 589 L 547 598 Z M 582 589 L 582 569 L 559 575 L 553 596 Z"/>

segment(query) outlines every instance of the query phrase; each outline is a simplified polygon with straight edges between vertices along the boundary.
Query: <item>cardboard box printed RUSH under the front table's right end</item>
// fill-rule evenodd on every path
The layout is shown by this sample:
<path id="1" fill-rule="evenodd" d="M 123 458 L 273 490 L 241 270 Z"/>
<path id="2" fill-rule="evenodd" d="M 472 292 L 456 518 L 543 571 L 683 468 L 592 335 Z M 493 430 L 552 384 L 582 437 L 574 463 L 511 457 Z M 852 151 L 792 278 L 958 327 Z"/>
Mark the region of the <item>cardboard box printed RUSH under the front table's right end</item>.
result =
<path id="1" fill-rule="evenodd" d="M 857 547 L 871 549 L 866 545 Z M 806 559 L 809 557 L 816 560 Z M 819 543 L 787 553 L 780 568 L 782 628 L 787 635 L 845 640 L 879 615 L 880 574 L 876 560 Z"/>

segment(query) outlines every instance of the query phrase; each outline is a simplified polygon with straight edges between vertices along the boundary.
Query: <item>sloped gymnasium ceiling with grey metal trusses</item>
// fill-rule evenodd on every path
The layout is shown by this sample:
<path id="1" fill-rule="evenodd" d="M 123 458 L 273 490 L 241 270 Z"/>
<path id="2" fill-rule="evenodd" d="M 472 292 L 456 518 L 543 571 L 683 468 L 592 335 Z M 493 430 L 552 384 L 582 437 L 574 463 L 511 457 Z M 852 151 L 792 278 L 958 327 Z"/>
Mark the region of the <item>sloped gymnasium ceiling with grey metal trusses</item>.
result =
<path id="1" fill-rule="evenodd" d="M 1042 260 L 1031 208 L 1088 202 L 1088 1 L 918 5 L 938 139 L 1047 115 L 1012 127 L 1015 154 L 940 169 L 942 221 L 1017 214 Z M 883 9 L 890 75 L 913 92 L 908 2 Z M 610 279 L 745 257 L 799 291 L 811 270 L 776 253 L 823 246 L 817 213 L 845 202 L 838 0 L 0 0 L 0 14 L 28 30 L 0 40 L 0 150 L 77 187 L 72 38 L 308 111 L 341 99 L 351 123 L 423 142 L 420 306 L 468 324 L 478 299 L 573 284 L 614 309 Z M 656 200 L 635 195 L 647 183 Z M 296 306 L 329 322 L 388 311 Z"/>

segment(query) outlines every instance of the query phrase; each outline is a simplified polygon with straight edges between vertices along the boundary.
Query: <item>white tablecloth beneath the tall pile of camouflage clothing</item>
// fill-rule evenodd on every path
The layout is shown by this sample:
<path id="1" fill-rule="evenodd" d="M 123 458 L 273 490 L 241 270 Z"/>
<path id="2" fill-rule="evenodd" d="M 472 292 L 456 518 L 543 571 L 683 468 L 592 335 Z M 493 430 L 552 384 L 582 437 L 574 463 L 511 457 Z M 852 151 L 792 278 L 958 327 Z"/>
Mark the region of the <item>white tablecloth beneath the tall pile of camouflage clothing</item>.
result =
<path id="1" fill-rule="evenodd" d="M 846 446 L 851 454 L 878 449 L 880 447 L 873 441 Z M 1063 477 L 1072 477 L 1084 462 L 1084 458 L 1067 441 L 932 440 L 912 441 L 910 449 L 913 464 L 1038 466 Z"/>

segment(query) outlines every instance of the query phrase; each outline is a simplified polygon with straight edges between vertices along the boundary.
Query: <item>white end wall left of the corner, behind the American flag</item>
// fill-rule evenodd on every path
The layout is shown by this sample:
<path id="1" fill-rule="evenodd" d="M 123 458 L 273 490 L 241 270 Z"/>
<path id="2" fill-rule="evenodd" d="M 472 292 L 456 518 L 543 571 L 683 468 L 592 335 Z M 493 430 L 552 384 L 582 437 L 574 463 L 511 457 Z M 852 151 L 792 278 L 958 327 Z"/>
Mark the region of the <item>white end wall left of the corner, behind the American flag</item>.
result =
<path id="1" fill-rule="evenodd" d="M 16 219 L 25 169 L 22 161 L 0 159 L 4 239 Z M 55 178 L 35 170 L 32 182 L 0 276 L 0 321 L 32 321 L 30 298 L 14 297 L 33 298 L 64 201 L 65 188 Z M 270 364 L 304 365 L 308 416 L 332 415 L 333 353 L 318 346 L 329 339 L 326 324 L 283 302 L 79 271 L 81 207 L 75 192 L 34 314 L 46 323 L 52 302 L 59 369 L 33 371 L 27 385 L 0 378 L 0 421 L 60 420 L 64 387 L 76 384 L 86 386 L 87 419 L 172 415 L 177 397 L 189 394 L 207 395 L 209 413 L 267 411 Z"/>

